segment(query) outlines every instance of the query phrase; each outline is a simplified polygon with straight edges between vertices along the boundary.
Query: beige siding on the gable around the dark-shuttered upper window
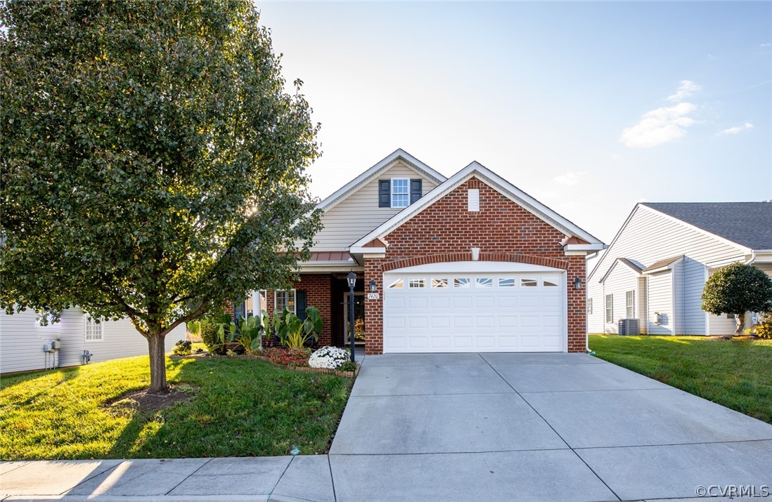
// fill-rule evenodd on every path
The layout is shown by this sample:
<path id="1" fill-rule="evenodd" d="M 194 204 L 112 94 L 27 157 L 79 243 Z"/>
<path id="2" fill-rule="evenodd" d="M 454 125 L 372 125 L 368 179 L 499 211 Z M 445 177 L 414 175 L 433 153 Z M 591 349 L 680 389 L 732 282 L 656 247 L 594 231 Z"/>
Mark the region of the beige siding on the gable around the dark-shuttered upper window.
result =
<path id="1" fill-rule="evenodd" d="M 422 177 L 402 160 L 395 160 L 381 174 L 349 194 L 322 216 L 323 229 L 314 237 L 313 251 L 343 251 L 363 235 L 374 230 L 384 221 L 405 209 L 404 207 L 378 207 L 378 180 L 391 178 L 422 179 L 422 195 L 436 185 Z"/>

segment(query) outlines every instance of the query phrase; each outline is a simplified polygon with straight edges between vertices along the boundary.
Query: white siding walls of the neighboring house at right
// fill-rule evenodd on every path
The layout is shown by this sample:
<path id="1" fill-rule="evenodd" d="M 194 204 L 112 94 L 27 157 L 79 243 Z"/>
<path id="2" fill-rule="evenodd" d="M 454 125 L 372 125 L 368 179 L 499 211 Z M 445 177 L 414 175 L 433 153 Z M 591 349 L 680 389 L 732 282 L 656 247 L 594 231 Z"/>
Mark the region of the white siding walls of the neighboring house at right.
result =
<path id="1" fill-rule="evenodd" d="M 648 267 L 655 261 L 681 254 L 686 256 L 679 272 L 680 278 L 676 278 L 678 284 L 682 286 L 682 292 L 676 298 L 676 302 L 679 303 L 677 310 L 680 315 L 677 320 L 678 328 L 690 335 L 720 334 L 714 332 L 712 327 L 706 326 L 705 312 L 700 308 L 702 302 L 699 297 L 703 294 L 705 285 L 704 266 L 706 264 L 728 264 L 732 261 L 743 261 L 743 250 L 739 246 L 704 234 L 645 206 L 638 206 L 635 209 L 621 234 L 601 258 L 598 267 L 592 271 L 591 276 L 587 279 L 587 292 L 592 295 L 594 302 L 603 301 L 603 286 L 598 281 L 606 274 L 608 268 L 617 258 L 628 258 Z M 649 287 L 648 291 L 651 292 L 652 289 Z M 652 307 L 651 302 L 652 299 L 650 298 L 648 304 L 649 322 L 651 322 L 656 310 Z M 670 315 L 674 315 L 673 312 L 670 312 Z M 601 319 L 594 316 L 590 318 L 590 332 L 596 332 L 598 320 Z M 671 318 L 670 322 L 674 323 L 676 319 Z M 674 324 L 669 325 L 671 332 L 673 328 L 675 328 Z M 707 332 L 706 328 L 708 328 Z M 682 333 L 675 332 L 673 334 L 680 335 Z"/>

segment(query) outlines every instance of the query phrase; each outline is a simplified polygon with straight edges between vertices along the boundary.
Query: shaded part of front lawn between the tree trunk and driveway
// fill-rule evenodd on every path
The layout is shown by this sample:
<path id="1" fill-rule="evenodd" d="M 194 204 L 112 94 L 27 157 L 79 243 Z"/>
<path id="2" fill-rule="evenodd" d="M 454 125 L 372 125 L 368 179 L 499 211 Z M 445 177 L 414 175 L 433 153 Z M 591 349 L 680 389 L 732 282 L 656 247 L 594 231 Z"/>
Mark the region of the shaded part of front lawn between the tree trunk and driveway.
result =
<path id="1" fill-rule="evenodd" d="M 130 420 L 107 458 L 326 453 L 352 384 L 257 360 L 168 360 L 167 368 L 171 385 L 192 386 L 195 396 L 164 409 L 119 406 Z"/>

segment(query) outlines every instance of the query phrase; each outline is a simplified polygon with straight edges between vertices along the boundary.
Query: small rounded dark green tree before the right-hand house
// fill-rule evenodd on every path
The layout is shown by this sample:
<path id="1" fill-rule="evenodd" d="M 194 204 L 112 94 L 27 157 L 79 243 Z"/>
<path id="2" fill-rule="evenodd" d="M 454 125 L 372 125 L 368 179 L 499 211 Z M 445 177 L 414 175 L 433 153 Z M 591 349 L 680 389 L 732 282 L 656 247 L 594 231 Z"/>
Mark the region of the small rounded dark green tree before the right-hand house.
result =
<path id="1" fill-rule="evenodd" d="M 734 334 L 739 335 L 746 312 L 772 310 L 772 278 L 753 265 L 726 265 L 708 278 L 702 300 L 705 312 L 735 315 Z"/>

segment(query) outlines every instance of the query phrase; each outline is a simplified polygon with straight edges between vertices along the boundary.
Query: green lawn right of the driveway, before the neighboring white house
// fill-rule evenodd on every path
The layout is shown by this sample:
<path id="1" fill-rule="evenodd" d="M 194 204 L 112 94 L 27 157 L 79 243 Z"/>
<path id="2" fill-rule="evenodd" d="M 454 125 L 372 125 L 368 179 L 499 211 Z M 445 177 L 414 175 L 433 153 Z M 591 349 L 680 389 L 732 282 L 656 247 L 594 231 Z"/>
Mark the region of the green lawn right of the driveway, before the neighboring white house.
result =
<path id="1" fill-rule="evenodd" d="M 590 335 L 590 349 L 601 359 L 772 423 L 772 340 Z"/>

